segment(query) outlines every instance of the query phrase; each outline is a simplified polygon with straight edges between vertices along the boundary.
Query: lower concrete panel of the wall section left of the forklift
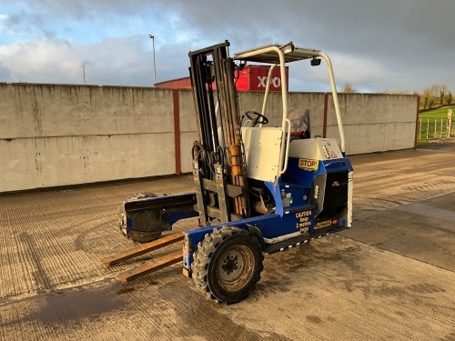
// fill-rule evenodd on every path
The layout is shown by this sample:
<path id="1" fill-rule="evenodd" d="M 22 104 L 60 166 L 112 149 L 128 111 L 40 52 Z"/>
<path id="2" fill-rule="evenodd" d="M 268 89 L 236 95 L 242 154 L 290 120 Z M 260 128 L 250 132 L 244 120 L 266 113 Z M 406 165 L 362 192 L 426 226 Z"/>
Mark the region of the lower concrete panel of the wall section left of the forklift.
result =
<path id="1" fill-rule="evenodd" d="M 0 140 L 0 151 L 0 192 L 175 171 L 174 135 L 168 133 Z"/>

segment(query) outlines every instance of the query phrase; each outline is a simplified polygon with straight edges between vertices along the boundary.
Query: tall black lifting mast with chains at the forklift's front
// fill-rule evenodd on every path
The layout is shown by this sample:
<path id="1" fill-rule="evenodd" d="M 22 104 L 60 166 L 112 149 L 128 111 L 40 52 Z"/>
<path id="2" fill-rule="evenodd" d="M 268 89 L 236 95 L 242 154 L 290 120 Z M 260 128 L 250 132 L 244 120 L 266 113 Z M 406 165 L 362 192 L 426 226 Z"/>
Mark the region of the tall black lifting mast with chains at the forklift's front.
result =
<path id="1" fill-rule="evenodd" d="M 249 216 L 247 163 L 229 43 L 190 52 L 198 140 L 192 148 L 200 224 Z"/>

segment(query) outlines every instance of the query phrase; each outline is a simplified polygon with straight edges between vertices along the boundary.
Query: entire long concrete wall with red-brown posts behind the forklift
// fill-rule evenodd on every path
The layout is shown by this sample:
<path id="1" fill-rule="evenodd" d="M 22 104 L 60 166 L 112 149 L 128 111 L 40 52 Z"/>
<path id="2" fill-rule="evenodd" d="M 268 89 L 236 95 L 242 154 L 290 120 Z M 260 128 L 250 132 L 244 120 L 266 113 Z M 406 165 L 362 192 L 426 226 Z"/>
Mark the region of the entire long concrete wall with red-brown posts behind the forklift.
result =
<path id="1" fill-rule="evenodd" d="M 260 111 L 263 95 L 239 93 L 240 110 Z M 309 109 L 312 135 L 338 137 L 330 97 L 290 93 L 288 108 Z M 417 96 L 339 99 L 349 154 L 414 146 Z M 280 101 L 270 94 L 270 125 Z M 189 172 L 196 137 L 189 90 L 0 83 L 0 192 Z"/>

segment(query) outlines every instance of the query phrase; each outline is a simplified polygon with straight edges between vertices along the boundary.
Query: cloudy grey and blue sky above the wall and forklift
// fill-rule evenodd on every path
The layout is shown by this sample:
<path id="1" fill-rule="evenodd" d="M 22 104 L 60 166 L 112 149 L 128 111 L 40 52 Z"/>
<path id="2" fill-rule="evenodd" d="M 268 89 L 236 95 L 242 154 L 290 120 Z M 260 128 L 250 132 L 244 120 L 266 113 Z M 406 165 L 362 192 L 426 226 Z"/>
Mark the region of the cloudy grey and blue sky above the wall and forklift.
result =
<path id="1" fill-rule="evenodd" d="M 454 0 L 0 0 L 0 82 L 153 85 L 187 53 L 293 41 L 332 59 L 339 89 L 455 90 Z M 83 67 L 84 66 L 84 67 Z M 289 65 L 292 91 L 328 91 L 325 68 Z"/>

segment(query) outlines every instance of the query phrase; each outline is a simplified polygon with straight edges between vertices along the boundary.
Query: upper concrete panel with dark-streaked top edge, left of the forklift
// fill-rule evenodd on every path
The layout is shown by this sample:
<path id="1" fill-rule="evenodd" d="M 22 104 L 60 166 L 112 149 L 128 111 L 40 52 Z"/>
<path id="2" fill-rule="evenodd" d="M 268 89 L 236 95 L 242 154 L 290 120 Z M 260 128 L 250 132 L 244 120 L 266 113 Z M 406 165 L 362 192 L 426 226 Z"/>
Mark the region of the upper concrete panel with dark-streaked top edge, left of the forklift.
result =
<path id="1" fill-rule="evenodd" d="M 172 91 L 142 87 L 0 84 L 0 136 L 172 132 Z"/>

